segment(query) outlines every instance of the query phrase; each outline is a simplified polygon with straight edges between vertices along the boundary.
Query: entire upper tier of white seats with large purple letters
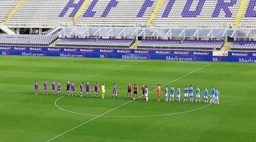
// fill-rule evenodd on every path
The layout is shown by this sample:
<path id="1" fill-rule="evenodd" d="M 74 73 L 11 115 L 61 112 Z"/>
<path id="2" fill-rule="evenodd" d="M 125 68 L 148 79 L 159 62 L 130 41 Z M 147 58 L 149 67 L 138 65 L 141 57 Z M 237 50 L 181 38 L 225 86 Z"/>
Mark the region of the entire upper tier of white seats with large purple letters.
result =
<path id="1" fill-rule="evenodd" d="M 19 0 L 0 0 L 0 22 Z M 87 0 L 86 0 L 87 1 Z M 158 0 L 26 0 L 8 22 L 69 23 L 78 11 L 76 25 L 146 24 Z M 241 0 L 164 0 L 153 24 L 233 24 Z M 256 24 L 255 0 L 248 0 L 241 24 Z"/>

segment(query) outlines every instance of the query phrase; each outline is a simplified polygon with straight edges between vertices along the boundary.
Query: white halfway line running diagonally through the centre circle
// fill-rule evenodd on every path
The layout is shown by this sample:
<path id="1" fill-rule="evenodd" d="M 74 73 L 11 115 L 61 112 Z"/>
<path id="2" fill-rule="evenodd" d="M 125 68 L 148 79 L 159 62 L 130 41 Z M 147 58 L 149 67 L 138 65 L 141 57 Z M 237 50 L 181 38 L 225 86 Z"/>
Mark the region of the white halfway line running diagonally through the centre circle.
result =
<path id="1" fill-rule="evenodd" d="M 211 64 L 208 64 L 208 65 L 206 65 L 206 66 L 204 66 L 204 67 L 207 67 L 207 66 L 209 66 L 209 65 L 211 65 Z M 198 71 L 198 70 L 200 70 L 200 69 L 202 69 L 202 68 L 204 68 L 204 67 L 201 67 L 201 68 L 199 68 L 199 69 L 197 69 L 197 70 L 195 70 L 195 71 L 193 71 L 193 72 L 191 72 L 191 73 L 188 73 L 187 75 L 190 75 L 190 74 L 192 74 L 192 73 L 194 73 L 194 72 L 196 72 L 196 71 Z M 185 77 L 185 76 L 187 76 L 187 75 L 184 75 L 184 76 L 182 76 L 182 77 Z M 180 78 L 182 78 L 182 77 L 180 77 Z M 174 82 L 174 81 L 177 81 L 177 80 L 179 80 L 180 78 L 175 79 L 175 80 L 173 80 L 173 81 L 171 81 L 171 82 L 169 82 L 169 83 L 167 83 L 167 84 L 170 84 L 170 83 L 172 83 L 172 82 Z M 165 85 L 167 85 L 167 84 L 165 84 Z M 164 86 L 164 85 L 163 85 L 163 86 Z M 163 86 L 162 86 L 162 87 L 163 87 Z M 154 91 L 154 90 L 152 90 L 152 91 L 150 91 L 150 92 L 153 92 L 153 91 Z M 148 93 L 150 93 L 150 92 L 148 92 Z M 143 95 L 142 95 L 142 96 L 143 96 Z M 139 96 L 139 97 L 141 97 L 141 96 Z M 132 102 L 132 101 L 133 101 L 133 100 L 131 100 L 131 101 L 127 102 L 127 103 L 130 103 L 130 102 Z M 120 106 L 118 106 L 118 107 L 116 107 L 116 108 L 114 108 L 114 109 L 112 109 L 112 110 L 109 110 L 109 111 L 107 111 L 107 112 L 105 112 L 105 113 L 103 113 L 103 114 L 101 114 L 101 115 L 99 115 L 99 116 L 97 116 L 97 117 L 94 117 L 94 118 L 92 118 L 92 119 L 90 119 L 90 120 L 84 122 L 83 124 L 80 124 L 80 125 L 78 125 L 78 126 L 72 128 L 72 129 L 70 129 L 70 130 L 68 130 L 68 131 L 65 131 L 64 133 L 61 133 L 60 135 L 58 135 L 58 136 L 56 136 L 56 137 L 54 137 L 54 138 L 51 138 L 51 139 L 47 140 L 46 142 L 49 142 L 49 141 L 51 141 L 51 140 L 53 140 L 53 139 L 55 139 L 55 138 L 58 138 L 59 136 L 65 134 L 65 133 L 67 133 L 67 132 L 69 132 L 69 131 L 72 131 L 72 130 L 76 129 L 77 127 L 80 127 L 80 126 L 82 126 L 82 125 L 84 125 L 84 124 L 86 124 L 86 123 L 88 123 L 88 122 L 90 122 L 90 121 L 92 121 L 92 120 L 94 120 L 94 119 L 96 119 L 96 118 L 98 118 L 98 117 L 101 117 L 101 116 L 103 116 L 104 114 L 106 114 L 106 113 L 108 113 L 108 112 L 110 112 L 110 111 L 116 110 L 117 108 L 119 108 L 119 107 L 121 107 L 121 106 L 123 106 L 123 105 L 125 105 L 125 104 L 127 104 L 127 103 L 124 103 L 124 104 L 122 104 L 122 105 L 120 105 Z"/>

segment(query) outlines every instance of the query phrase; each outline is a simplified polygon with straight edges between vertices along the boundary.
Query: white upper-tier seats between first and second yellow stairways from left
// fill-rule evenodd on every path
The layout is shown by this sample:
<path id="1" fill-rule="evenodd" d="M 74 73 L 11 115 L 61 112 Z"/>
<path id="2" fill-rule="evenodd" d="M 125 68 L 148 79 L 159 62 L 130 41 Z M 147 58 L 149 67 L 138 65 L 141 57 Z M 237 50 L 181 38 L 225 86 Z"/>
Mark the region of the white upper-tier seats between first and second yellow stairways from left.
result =
<path id="1" fill-rule="evenodd" d="M 69 0 L 25 0 L 8 22 L 56 22 L 68 23 L 74 8 L 69 8 L 64 17 L 59 17 Z M 78 3 L 75 0 L 74 3 Z"/>

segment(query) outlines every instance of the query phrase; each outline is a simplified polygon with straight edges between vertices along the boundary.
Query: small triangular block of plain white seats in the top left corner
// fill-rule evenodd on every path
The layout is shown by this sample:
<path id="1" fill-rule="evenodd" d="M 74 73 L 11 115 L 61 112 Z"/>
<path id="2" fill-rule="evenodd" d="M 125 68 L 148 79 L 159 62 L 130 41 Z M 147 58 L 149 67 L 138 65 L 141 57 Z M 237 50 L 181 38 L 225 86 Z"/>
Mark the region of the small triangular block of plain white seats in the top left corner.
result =
<path id="1" fill-rule="evenodd" d="M 19 3 L 20 0 L 0 0 L 0 23 L 12 11 L 12 9 Z"/>

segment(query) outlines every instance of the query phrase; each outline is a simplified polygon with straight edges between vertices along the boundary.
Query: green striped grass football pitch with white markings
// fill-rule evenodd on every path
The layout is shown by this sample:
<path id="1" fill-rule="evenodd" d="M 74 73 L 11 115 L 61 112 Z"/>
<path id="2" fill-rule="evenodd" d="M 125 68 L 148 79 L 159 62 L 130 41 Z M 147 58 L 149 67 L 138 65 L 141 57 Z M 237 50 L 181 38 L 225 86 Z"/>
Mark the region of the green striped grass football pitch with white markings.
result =
<path id="1" fill-rule="evenodd" d="M 0 141 L 255 141 L 256 64 L 0 56 Z M 48 80 L 48 94 L 43 82 Z M 52 80 L 62 96 L 51 95 Z M 78 96 L 67 96 L 74 81 Z M 35 95 L 34 82 L 39 83 Z M 79 84 L 106 84 L 105 99 L 79 97 Z M 119 99 L 112 99 L 113 84 Z M 136 83 L 139 99 L 126 98 Z M 141 97 L 148 86 L 149 101 Z M 162 89 L 157 102 L 156 84 Z M 201 103 L 182 102 L 184 88 L 201 89 Z M 181 90 L 181 102 L 164 102 L 164 85 Z M 220 104 L 204 102 L 204 87 L 220 92 Z M 93 88 L 93 87 L 92 87 Z M 101 90 L 101 89 L 100 89 Z M 56 92 L 57 93 L 57 92 Z M 85 96 L 85 91 L 83 92 Z M 194 102 L 195 102 L 194 92 Z M 209 97 L 210 100 L 210 97 Z"/>

